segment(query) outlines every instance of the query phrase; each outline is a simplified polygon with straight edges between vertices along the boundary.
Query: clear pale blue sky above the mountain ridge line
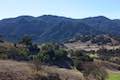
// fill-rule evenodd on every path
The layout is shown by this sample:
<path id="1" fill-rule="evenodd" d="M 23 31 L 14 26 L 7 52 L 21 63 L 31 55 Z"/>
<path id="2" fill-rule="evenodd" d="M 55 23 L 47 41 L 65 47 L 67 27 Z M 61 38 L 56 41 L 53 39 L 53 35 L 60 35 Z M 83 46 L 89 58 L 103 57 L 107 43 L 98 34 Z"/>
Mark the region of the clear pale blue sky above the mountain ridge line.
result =
<path id="1" fill-rule="evenodd" d="M 0 0 L 0 19 L 22 15 L 120 19 L 120 0 Z"/>

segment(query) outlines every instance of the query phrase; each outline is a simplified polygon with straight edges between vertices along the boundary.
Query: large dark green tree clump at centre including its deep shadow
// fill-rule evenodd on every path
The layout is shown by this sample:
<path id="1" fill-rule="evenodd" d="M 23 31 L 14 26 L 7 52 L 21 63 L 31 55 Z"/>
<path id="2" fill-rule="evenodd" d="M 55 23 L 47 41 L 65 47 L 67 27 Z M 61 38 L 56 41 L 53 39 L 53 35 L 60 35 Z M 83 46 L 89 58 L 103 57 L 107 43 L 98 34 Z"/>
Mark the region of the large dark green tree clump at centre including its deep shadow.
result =
<path id="1" fill-rule="evenodd" d="M 38 63 L 71 68 L 73 63 L 71 58 L 67 56 L 68 52 L 64 48 L 58 46 L 55 44 L 42 45 L 39 53 L 35 56 Z"/>

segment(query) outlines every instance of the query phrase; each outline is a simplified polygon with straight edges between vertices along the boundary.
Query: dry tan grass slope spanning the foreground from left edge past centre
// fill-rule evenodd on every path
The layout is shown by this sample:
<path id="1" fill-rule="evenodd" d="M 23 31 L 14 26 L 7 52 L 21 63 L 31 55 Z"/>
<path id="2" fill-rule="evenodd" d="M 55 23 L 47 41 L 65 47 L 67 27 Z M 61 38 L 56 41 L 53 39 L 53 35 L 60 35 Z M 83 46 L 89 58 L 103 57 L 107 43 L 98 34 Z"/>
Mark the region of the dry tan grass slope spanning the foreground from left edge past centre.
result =
<path id="1" fill-rule="evenodd" d="M 58 74 L 61 80 L 84 80 L 79 71 L 48 66 L 42 66 L 40 71 L 35 71 L 31 66 L 25 62 L 0 60 L 0 80 L 36 80 L 36 74 L 46 77 L 49 74 Z"/>

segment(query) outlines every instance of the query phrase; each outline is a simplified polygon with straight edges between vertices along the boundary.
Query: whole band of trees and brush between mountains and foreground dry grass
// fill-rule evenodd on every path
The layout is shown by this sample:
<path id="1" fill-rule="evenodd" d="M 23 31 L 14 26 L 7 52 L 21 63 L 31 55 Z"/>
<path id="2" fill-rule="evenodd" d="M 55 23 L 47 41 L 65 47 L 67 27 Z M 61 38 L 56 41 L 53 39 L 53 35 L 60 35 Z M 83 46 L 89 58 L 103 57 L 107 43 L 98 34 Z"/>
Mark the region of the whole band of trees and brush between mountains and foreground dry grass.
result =
<path id="1" fill-rule="evenodd" d="M 101 64 L 97 64 L 95 59 L 119 64 L 119 53 L 120 49 L 68 50 L 58 43 L 45 43 L 38 47 L 37 44 L 32 43 L 32 39 L 29 37 L 24 37 L 21 43 L 0 47 L 0 59 L 31 61 L 37 72 L 41 70 L 41 65 L 52 65 L 67 69 L 75 68 L 82 72 L 87 80 L 106 80 L 108 74 L 105 68 Z M 42 76 L 36 74 L 36 79 L 39 77 Z M 43 78 L 46 79 L 44 76 Z"/>

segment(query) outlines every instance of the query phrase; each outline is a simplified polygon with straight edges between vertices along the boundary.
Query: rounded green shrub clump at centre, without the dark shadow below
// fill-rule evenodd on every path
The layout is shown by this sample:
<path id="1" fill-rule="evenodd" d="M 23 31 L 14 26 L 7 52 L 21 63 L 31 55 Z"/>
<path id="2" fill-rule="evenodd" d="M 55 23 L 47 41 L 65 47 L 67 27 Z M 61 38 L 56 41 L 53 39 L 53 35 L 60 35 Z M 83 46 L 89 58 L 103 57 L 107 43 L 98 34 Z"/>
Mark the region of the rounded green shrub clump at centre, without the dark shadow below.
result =
<path id="1" fill-rule="evenodd" d="M 44 44 L 37 55 L 41 62 L 54 61 L 63 57 L 67 57 L 67 51 L 55 44 Z"/>

